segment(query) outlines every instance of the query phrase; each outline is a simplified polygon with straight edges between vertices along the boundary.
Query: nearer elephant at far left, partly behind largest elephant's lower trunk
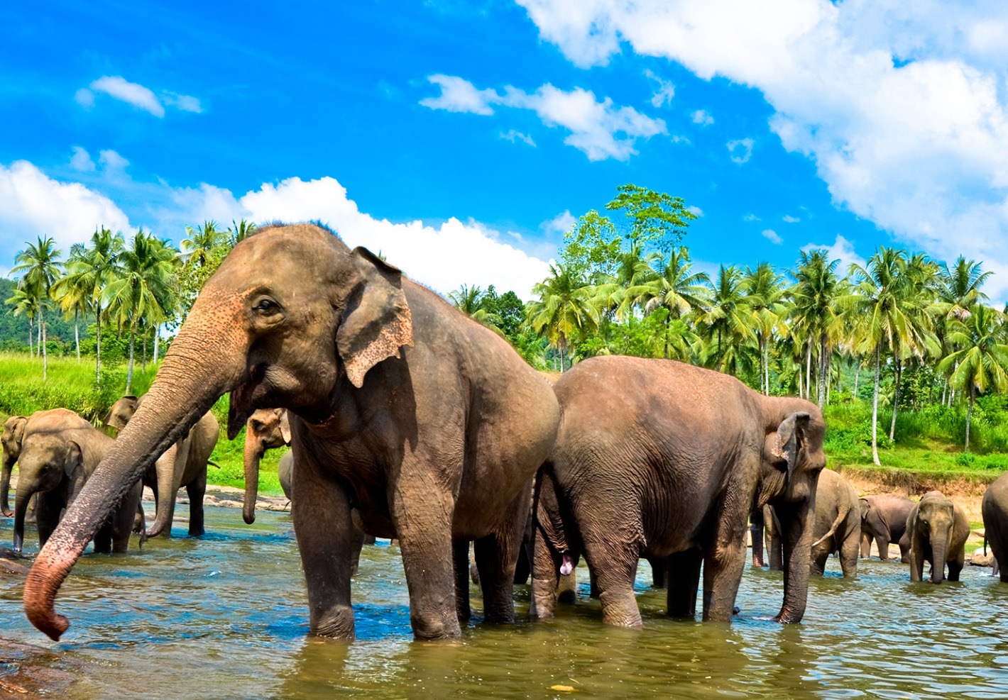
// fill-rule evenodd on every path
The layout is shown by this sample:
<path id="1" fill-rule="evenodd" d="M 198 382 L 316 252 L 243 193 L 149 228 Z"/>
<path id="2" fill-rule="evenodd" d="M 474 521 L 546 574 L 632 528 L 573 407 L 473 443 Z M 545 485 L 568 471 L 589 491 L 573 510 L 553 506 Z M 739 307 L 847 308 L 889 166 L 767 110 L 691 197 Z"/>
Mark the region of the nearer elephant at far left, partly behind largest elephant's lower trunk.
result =
<path id="1" fill-rule="evenodd" d="M 15 552 L 21 551 L 24 542 L 24 516 L 29 499 L 37 495 L 38 539 L 44 547 L 61 512 L 76 502 L 113 442 L 65 408 L 38 411 L 25 421 L 14 506 Z M 139 478 L 134 478 L 125 500 L 103 518 L 93 535 L 96 552 L 127 550 L 142 488 Z"/>

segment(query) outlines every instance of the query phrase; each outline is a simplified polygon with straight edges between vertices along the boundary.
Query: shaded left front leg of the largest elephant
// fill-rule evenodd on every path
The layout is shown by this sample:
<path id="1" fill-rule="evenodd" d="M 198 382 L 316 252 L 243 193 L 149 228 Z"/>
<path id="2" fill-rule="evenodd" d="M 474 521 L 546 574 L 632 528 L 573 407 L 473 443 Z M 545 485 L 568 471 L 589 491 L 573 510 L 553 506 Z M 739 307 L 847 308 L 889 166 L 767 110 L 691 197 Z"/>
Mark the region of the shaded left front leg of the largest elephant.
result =
<path id="1" fill-rule="evenodd" d="M 323 476 L 298 453 L 290 514 L 308 593 L 312 634 L 352 640 L 350 568 L 354 524 L 350 500 L 336 481 Z"/>

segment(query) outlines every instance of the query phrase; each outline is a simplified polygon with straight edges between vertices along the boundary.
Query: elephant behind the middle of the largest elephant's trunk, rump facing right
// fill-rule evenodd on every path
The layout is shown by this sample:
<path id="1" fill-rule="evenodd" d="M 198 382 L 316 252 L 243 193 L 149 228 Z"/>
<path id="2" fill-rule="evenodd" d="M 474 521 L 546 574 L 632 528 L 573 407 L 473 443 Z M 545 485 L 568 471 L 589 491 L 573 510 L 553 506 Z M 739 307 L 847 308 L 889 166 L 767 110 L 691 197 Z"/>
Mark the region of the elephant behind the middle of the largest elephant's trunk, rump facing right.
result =
<path id="1" fill-rule="evenodd" d="M 106 427 L 121 431 L 143 404 L 144 397 L 124 396 L 109 410 L 105 417 Z M 190 499 L 188 534 L 201 537 L 205 534 L 203 499 L 207 494 L 207 464 L 221 435 L 221 426 L 210 411 L 197 421 L 196 425 L 170 445 L 157 461 L 144 472 L 143 485 L 154 493 L 154 522 L 147 528 L 147 537 L 171 537 L 171 522 L 174 520 L 175 498 L 178 489 L 185 486 Z M 165 498 L 165 494 L 170 495 Z"/>

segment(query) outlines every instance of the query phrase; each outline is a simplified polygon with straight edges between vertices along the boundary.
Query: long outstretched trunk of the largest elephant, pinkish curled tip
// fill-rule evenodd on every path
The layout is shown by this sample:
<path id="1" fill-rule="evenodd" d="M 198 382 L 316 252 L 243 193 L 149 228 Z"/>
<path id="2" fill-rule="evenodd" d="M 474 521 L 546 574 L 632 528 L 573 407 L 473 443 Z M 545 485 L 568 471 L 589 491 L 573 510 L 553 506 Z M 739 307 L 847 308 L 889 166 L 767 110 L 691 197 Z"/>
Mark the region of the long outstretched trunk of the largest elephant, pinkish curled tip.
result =
<path id="1" fill-rule="evenodd" d="M 70 621 L 53 610 L 56 592 L 101 523 L 140 475 L 178 440 L 245 370 L 248 339 L 239 298 L 205 288 L 164 358 L 143 405 L 123 429 L 62 522 L 38 553 L 24 584 L 24 611 L 53 640 Z"/>

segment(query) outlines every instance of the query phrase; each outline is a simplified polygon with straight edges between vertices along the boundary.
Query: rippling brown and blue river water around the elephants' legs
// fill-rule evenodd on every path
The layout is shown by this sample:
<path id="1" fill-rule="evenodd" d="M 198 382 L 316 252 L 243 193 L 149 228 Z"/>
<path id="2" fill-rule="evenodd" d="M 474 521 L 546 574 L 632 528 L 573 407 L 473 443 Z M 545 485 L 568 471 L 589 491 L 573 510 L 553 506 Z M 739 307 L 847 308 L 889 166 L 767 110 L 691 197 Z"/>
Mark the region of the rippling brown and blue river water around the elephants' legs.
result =
<path id="1" fill-rule="evenodd" d="M 184 510 L 183 510 L 184 512 Z M 747 568 L 732 624 L 667 619 L 641 562 L 644 629 L 603 627 L 597 601 L 548 623 L 471 624 L 454 644 L 412 641 L 399 552 L 366 547 L 354 582 L 358 640 L 306 637 L 304 583 L 289 517 L 211 508 L 204 540 L 151 541 L 139 555 L 86 555 L 57 609 L 59 644 L 0 595 L 0 637 L 45 647 L 78 669 L 78 698 L 917 698 L 1008 697 L 1008 585 L 967 567 L 962 583 L 911 584 L 896 563 L 836 561 L 813 580 L 804 622 L 760 617 L 780 604 L 781 575 Z M 0 520 L 0 544 L 10 541 Z M 34 533 L 26 545 L 37 542 Z M 517 587 L 519 615 L 528 607 Z M 479 599 L 474 589 L 474 606 Z M 2 674 L 2 671 L 0 671 Z M 572 691 L 553 689 L 566 686 Z"/>

